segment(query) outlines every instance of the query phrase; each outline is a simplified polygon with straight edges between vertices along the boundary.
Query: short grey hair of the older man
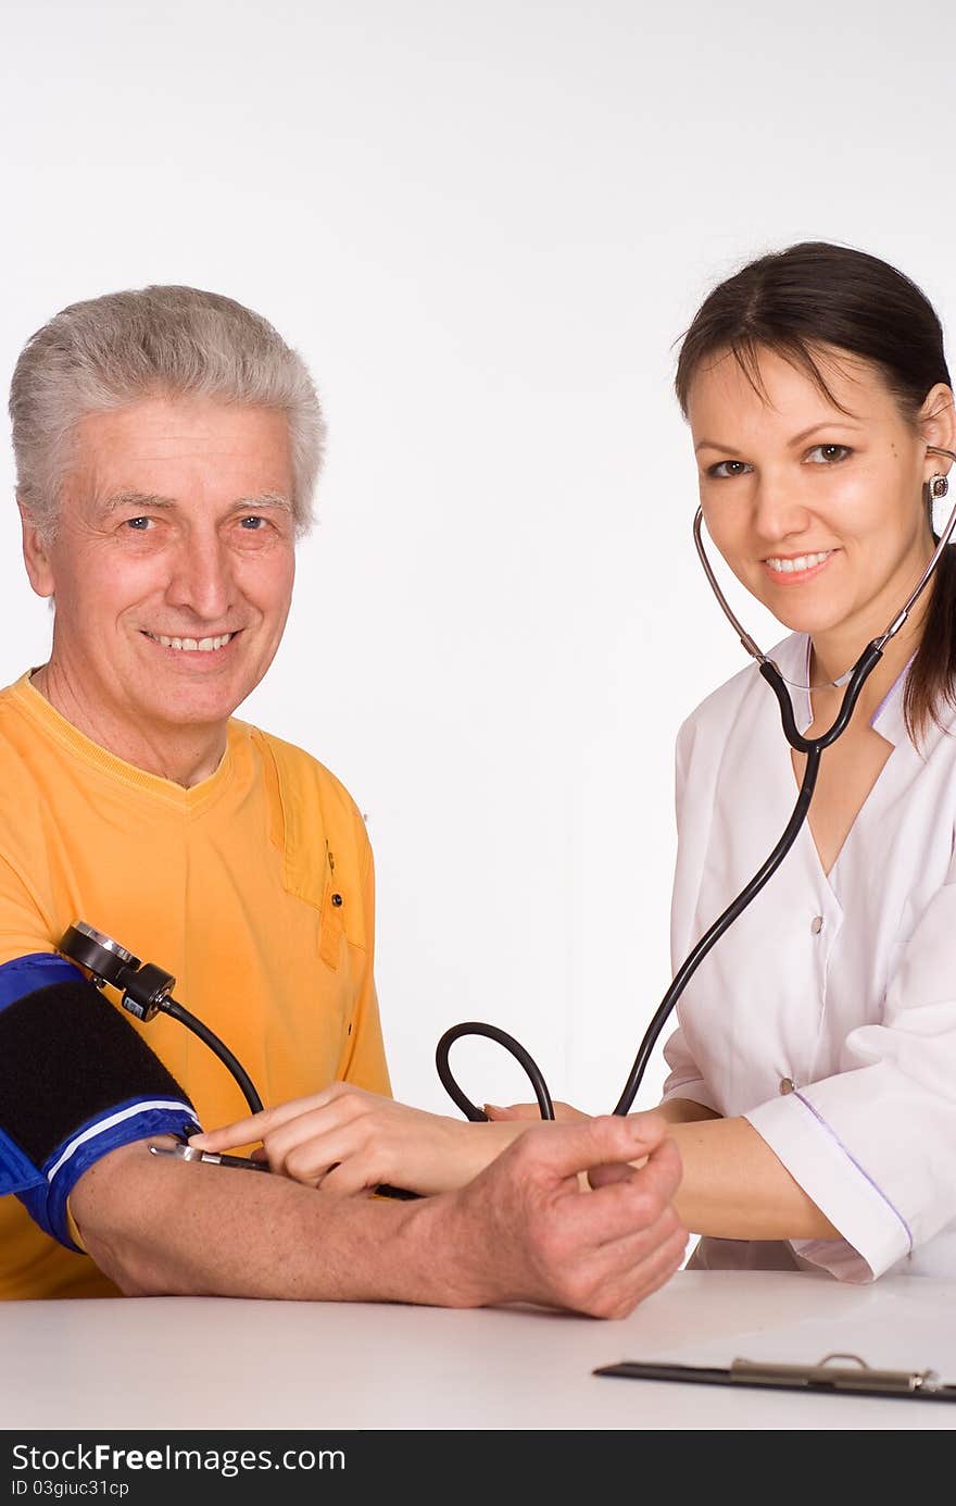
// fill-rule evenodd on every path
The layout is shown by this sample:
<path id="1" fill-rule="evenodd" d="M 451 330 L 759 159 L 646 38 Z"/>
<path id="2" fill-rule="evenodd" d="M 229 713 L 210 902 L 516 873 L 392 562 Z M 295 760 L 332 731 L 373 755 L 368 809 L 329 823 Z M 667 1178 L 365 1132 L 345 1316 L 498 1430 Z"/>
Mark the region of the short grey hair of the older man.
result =
<path id="1" fill-rule="evenodd" d="M 62 309 L 17 361 L 9 405 L 17 494 L 45 538 L 56 533 L 80 419 L 155 395 L 282 410 L 292 443 L 297 532 L 309 529 L 325 420 L 301 355 L 232 298 L 151 286 Z"/>

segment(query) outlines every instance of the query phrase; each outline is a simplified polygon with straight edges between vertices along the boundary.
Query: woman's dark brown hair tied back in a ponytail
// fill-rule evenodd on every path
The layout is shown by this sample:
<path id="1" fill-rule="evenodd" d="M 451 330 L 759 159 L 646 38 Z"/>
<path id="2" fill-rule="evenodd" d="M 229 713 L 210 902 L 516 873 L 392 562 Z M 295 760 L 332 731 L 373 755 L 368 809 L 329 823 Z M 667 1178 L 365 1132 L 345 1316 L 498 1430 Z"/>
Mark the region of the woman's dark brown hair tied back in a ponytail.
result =
<path id="1" fill-rule="evenodd" d="M 702 364 L 727 352 L 762 390 L 765 349 L 802 367 L 834 401 L 814 355 L 822 345 L 876 366 L 909 422 L 936 383 L 951 386 L 939 319 L 909 277 L 866 252 L 802 241 L 760 256 L 708 294 L 680 342 L 680 410 L 687 416 Z M 945 550 L 930 589 L 903 699 L 914 742 L 930 718 L 939 721 L 939 705 L 956 708 L 956 550 Z"/>

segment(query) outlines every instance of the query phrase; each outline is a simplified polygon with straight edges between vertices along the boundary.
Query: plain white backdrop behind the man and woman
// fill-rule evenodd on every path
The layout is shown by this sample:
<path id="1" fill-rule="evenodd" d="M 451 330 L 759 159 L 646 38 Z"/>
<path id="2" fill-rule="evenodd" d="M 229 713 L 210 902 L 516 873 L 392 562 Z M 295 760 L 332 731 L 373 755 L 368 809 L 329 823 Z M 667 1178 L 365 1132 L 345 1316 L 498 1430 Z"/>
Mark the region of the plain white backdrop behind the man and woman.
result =
<path id="1" fill-rule="evenodd" d="M 0 0 L 0 29 L 3 384 L 57 309 L 151 282 L 248 303 L 315 373 L 319 524 L 239 714 L 367 813 L 396 1095 L 456 1114 L 435 1044 L 483 1020 L 610 1110 L 670 980 L 674 733 L 745 663 L 676 342 L 808 238 L 947 322 L 951 6 Z M 9 443 L 0 494 L 6 684 L 50 640 Z M 483 1041 L 452 1065 L 530 1096 Z M 635 1107 L 662 1075 L 658 1045 Z"/>

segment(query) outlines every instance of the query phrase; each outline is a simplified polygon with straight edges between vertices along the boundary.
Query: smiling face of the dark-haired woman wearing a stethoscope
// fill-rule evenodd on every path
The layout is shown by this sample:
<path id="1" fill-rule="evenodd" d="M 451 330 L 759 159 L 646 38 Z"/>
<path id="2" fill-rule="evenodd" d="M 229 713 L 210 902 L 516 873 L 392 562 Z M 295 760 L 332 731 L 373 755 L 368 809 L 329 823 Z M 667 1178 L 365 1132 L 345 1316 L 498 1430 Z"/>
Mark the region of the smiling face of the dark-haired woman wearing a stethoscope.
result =
<path id="1" fill-rule="evenodd" d="M 872 363 L 813 349 L 830 389 L 771 349 L 753 383 L 732 352 L 696 373 L 687 413 L 708 533 L 792 631 L 881 633 L 933 548 L 924 482 L 932 419 L 914 422 Z M 760 389 L 760 390 L 759 390 Z M 933 389 L 933 404 L 951 402 Z"/>

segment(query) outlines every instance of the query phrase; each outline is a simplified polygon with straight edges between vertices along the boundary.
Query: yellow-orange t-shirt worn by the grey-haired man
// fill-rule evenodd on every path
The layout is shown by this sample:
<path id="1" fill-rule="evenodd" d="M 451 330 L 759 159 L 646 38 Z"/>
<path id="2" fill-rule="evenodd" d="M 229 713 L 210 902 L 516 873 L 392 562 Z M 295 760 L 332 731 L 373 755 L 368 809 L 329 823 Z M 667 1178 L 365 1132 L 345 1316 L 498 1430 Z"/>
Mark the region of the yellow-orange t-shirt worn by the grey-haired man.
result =
<path id="1" fill-rule="evenodd" d="M 77 920 L 172 973 L 173 998 L 226 1044 L 266 1107 L 334 1080 L 391 1092 L 372 849 L 348 791 L 301 748 L 233 718 L 215 773 L 184 789 L 92 742 L 29 675 L 2 690 L 0 964 L 54 952 Z M 123 1018 L 203 1128 L 250 1111 L 185 1026 Z M 87 1256 L 0 1197 L 0 1300 L 107 1295 L 116 1288 Z"/>

